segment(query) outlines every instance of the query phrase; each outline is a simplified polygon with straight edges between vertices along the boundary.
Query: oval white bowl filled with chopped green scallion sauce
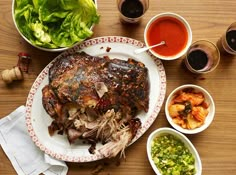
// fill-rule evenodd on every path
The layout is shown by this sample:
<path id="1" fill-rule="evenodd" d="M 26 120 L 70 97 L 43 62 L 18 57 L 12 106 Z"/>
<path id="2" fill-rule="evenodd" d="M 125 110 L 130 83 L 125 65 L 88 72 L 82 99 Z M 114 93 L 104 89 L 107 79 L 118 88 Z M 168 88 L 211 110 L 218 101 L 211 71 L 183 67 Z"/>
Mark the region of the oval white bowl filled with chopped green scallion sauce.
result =
<path id="1" fill-rule="evenodd" d="M 159 128 L 147 140 L 147 155 L 157 175 L 201 175 L 200 156 L 191 141 L 172 128 Z"/>

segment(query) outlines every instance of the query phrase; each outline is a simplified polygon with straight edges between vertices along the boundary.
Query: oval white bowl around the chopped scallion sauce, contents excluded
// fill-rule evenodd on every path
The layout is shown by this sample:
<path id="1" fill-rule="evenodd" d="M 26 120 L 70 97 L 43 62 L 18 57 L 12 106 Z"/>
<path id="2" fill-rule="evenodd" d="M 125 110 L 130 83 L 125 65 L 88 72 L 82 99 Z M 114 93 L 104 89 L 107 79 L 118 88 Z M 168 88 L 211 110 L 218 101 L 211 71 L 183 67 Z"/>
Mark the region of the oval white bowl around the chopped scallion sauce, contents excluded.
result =
<path id="1" fill-rule="evenodd" d="M 153 131 L 147 140 L 147 155 L 148 155 L 148 160 L 154 170 L 154 172 L 157 175 L 161 175 L 160 171 L 158 170 L 157 166 L 155 165 L 154 161 L 152 160 L 152 156 L 151 156 L 151 143 L 153 141 L 154 138 L 163 135 L 163 134 L 172 134 L 175 137 L 177 137 L 178 139 L 180 139 L 185 146 L 189 149 L 189 151 L 192 153 L 192 155 L 195 158 L 195 169 L 196 169 L 196 174 L 195 175 L 201 175 L 202 174 L 202 162 L 200 159 L 200 156 L 197 152 L 197 150 L 195 149 L 194 145 L 191 143 L 191 141 L 182 133 L 171 129 L 171 128 L 159 128 L 155 131 Z"/>

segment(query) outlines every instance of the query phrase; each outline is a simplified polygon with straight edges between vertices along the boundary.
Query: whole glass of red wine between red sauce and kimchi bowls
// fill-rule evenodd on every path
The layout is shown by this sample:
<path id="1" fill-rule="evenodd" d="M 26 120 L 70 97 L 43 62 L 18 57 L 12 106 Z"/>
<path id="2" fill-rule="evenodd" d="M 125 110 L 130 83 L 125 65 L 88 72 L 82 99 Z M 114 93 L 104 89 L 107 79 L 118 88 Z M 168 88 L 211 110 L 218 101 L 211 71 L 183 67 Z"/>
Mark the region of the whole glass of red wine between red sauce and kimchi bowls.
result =
<path id="1" fill-rule="evenodd" d="M 214 43 L 198 40 L 189 47 L 184 62 L 188 70 L 193 73 L 209 73 L 219 64 L 220 52 Z"/>

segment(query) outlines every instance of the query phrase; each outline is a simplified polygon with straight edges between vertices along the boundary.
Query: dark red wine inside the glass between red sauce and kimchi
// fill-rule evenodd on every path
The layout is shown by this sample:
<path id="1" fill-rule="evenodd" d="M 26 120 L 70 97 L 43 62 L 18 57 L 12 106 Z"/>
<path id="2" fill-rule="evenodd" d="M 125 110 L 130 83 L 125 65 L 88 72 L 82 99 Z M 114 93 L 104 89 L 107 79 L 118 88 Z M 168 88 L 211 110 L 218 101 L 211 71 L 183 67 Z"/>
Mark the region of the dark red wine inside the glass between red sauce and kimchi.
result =
<path id="1" fill-rule="evenodd" d="M 193 69 L 201 70 L 206 67 L 208 56 L 203 50 L 196 49 L 189 53 L 188 62 Z"/>

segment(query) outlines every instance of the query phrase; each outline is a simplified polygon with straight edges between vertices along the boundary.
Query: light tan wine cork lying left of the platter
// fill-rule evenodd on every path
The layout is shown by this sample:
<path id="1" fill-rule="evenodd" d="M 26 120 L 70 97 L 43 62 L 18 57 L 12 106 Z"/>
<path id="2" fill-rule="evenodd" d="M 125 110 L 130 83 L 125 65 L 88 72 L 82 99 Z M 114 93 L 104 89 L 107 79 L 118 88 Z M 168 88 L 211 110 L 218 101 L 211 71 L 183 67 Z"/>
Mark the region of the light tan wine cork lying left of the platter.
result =
<path id="1" fill-rule="evenodd" d="M 2 71 L 2 80 L 9 84 L 14 80 L 22 80 L 23 74 L 18 66 L 12 68 L 12 69 L 6 69 Z"/>

